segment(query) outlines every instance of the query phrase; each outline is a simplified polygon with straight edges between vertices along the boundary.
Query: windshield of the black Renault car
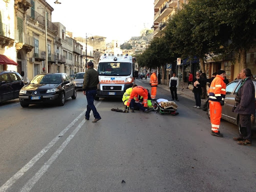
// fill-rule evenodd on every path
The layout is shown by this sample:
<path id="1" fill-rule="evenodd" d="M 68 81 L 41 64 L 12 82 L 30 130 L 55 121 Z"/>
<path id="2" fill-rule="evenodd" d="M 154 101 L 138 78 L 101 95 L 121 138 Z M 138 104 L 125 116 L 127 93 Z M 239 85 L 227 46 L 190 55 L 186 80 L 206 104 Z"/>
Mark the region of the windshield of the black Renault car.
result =
<path id="1" fill-rule="evenodd" d="M 30 84 L 59 84 L 61 83 L 60 74 L 39 74 L 32 78 Z"/>

